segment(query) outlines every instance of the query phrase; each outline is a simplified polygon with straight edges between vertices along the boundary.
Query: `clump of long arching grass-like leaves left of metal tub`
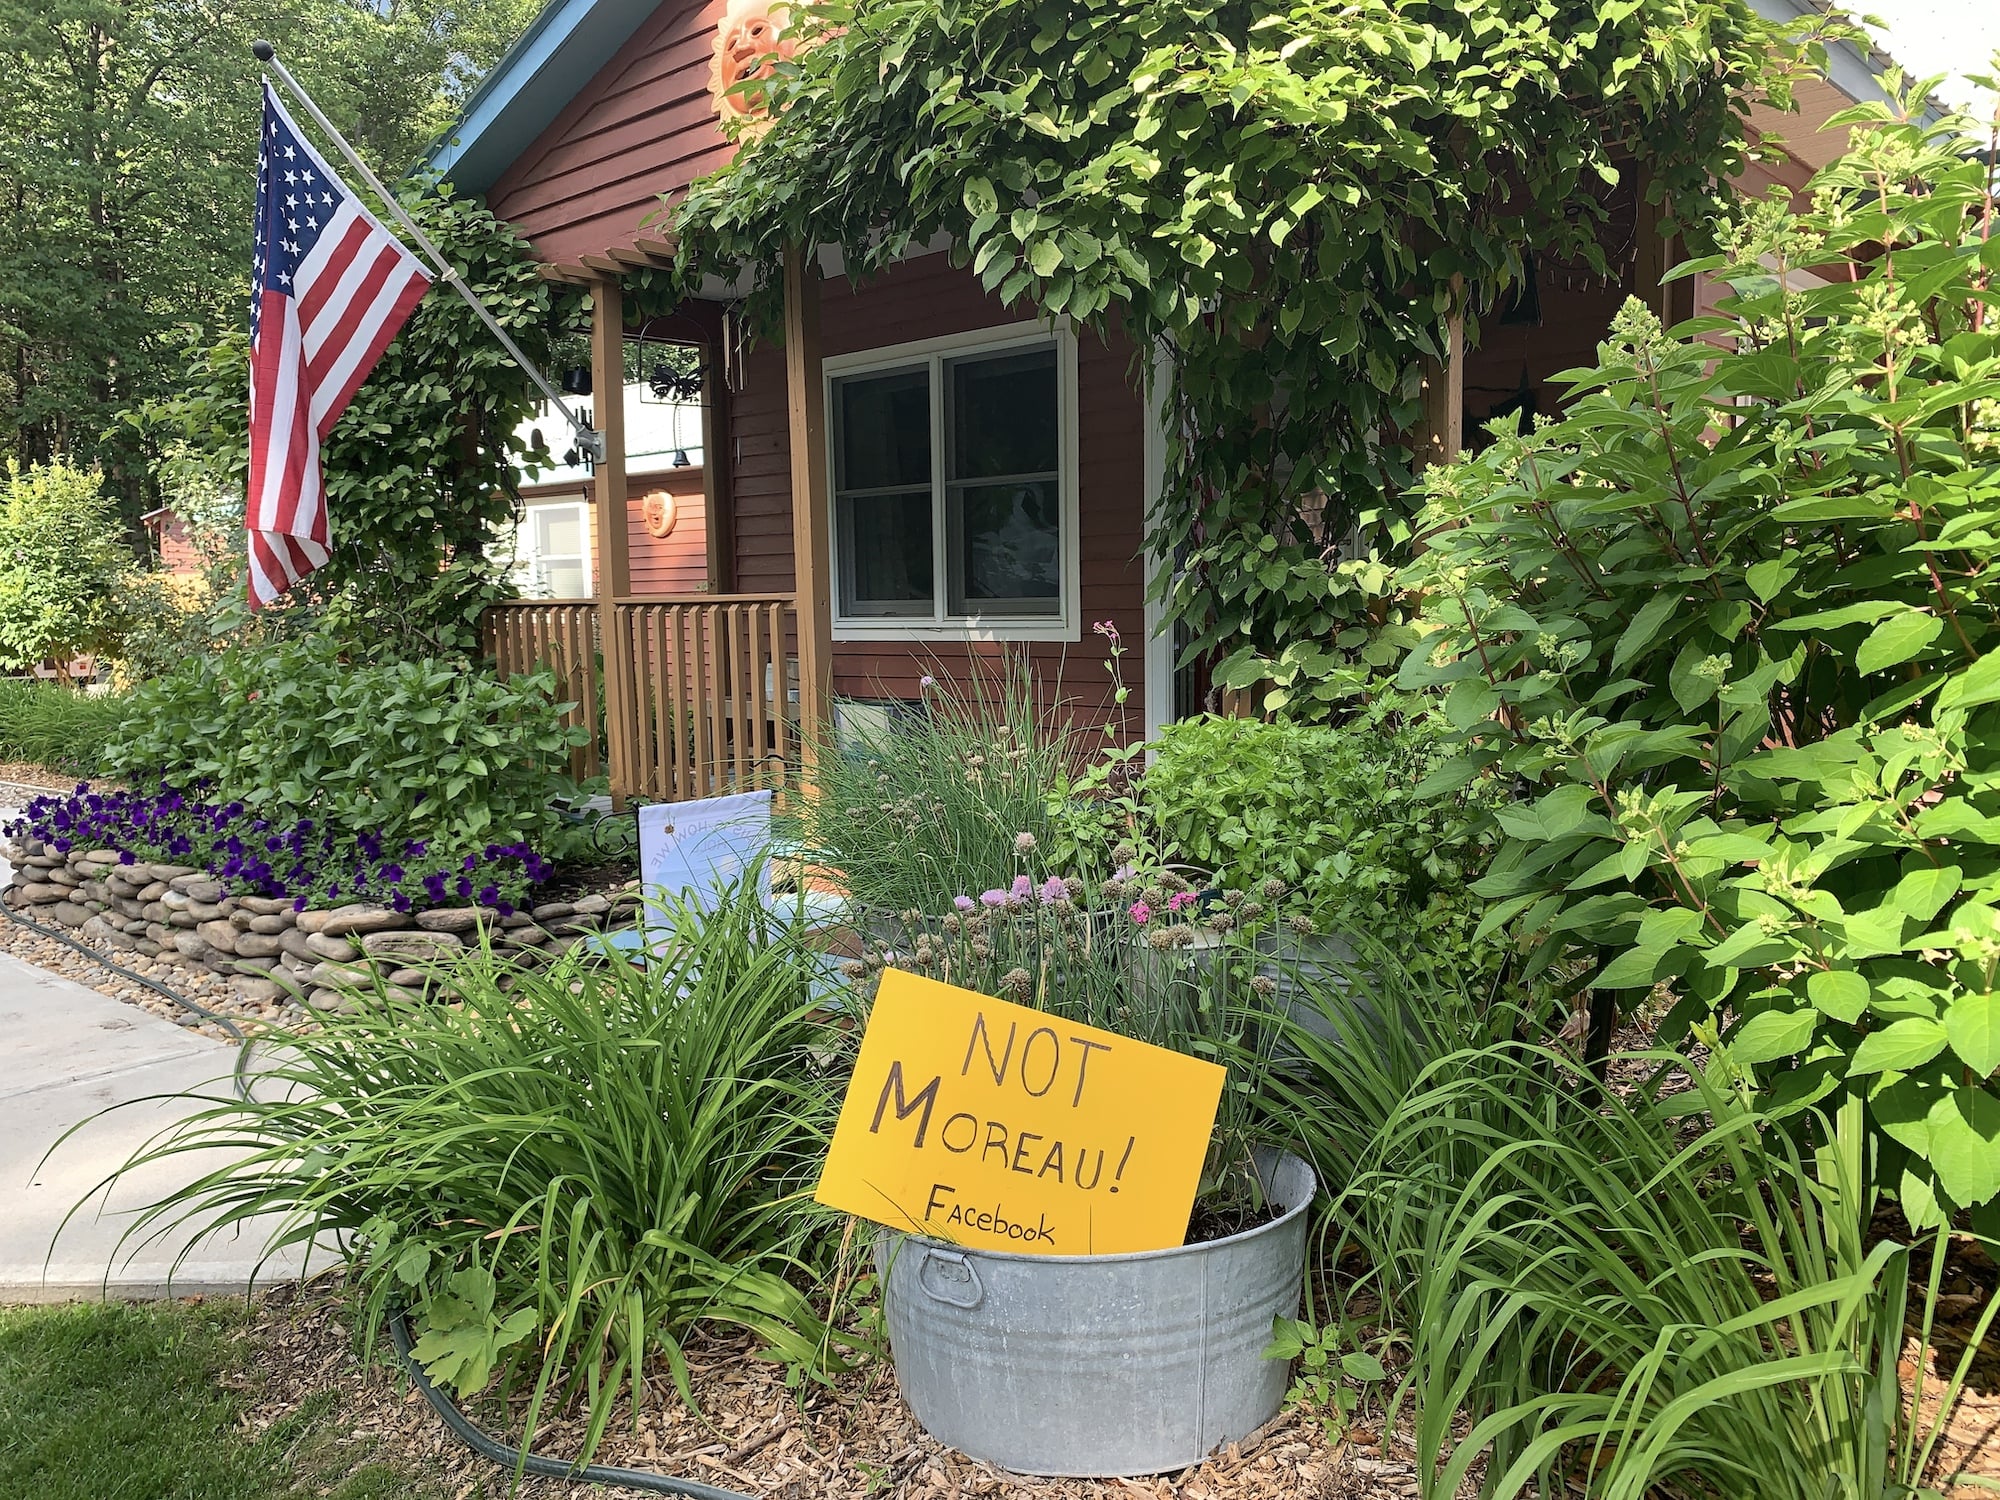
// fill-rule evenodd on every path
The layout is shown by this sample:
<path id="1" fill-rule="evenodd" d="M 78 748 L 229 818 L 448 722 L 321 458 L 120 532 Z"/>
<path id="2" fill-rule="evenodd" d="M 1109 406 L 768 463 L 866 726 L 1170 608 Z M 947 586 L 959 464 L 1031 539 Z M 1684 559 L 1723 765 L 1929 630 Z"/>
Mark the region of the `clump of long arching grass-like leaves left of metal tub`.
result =
<path id="1" fill-rule="evenodd" d="M 660 954 L 516 970 L 472 956 L 458 1006 L 360 992 L 272 1058 L 254 1098 L 216 1098 L 124 1170 L 230 1146 L 134 1228 L 274 1216 L 272 1246 L 344 1246 L 366 1316 L 416 1310 L 418 1354 L 464 1394 L 526 1380 L 582 1392 L 596 1448 L 650 1356 L 686 1394 L 682 1340 L 754 1332 L 806 1372 L 840 1350 L 808 1290 L 826 1264 L 788 1194 L 840 1104 L 824 960 L 754 880 L 718 912 L 666 906 Z"/>

